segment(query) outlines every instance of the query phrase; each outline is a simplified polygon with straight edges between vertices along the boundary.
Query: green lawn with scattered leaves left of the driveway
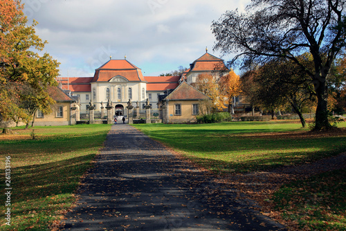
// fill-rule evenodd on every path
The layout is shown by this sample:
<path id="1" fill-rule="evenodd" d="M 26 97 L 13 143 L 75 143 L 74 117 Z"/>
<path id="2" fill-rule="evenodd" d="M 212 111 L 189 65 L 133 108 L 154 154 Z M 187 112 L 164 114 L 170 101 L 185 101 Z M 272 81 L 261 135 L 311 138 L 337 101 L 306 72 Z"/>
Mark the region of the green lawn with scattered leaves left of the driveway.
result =
<path id="1" fill-rule="evenodd" d="M 1 189 L 5 189 L 6 157 L 10 157 L 11 226 L 2 225 L 5 203 L 1 203 L 0 230 L 51 230 L 75 202 L 73 193 L 91 166 L 109 125 L 78 125 L 13 129 L 0 136 Z M 6 196 L 0 194 L 0 201 Z M 48 228 L 49 227 L 49 228 Z"/>

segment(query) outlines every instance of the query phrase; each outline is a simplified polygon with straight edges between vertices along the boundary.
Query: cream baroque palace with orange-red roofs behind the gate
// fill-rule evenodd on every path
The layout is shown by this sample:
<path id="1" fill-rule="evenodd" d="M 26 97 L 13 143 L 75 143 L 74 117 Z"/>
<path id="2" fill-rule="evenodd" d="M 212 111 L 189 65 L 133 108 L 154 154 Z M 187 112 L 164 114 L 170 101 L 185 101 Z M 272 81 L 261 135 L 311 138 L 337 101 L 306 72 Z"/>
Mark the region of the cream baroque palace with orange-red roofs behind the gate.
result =
<path id="1" fill-rule="evenodd" d="M 218 71 L 217 71 L 218 70 Z M 92 101 L 95 110 L 111 101 L 116 116 L 126 115 L 127 102 L 144 110 L 147 99 L 153 110 L 158 110 L 159 99 L 169 94 L 182 82 L 194 83 L 199 74 L 212 74 L 217 78 L 220 74 L 228 74 L 230 70 L 224 60 L 208 53 L 190 64 L 190 69 L 181 76 L 143 76 L 140 68 L 123 60 L 112 60 L 95 69 L 93 77 L 60 77 L 60 87 L 71 96 L 80 97 L 80 112 L 89 109 Z M 160 97 L 161 96 L 161 97 Z M 188 99 L 186 99 L 188 100 Z"/>

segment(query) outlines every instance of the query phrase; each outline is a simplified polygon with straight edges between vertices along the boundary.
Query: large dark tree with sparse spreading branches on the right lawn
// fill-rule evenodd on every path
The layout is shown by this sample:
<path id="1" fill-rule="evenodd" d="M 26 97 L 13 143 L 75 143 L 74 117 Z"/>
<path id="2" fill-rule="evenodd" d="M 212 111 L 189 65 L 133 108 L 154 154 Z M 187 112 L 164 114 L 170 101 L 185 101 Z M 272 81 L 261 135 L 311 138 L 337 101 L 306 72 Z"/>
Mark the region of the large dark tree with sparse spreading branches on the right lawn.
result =
<path id="1" fill-rule="evenodd" d="M 308 76 L 318 99 L 314 129 L 331 128 L 328 121 L 327 78 L 345 48 L 345 0 L 253 0 L 246 12 L 227 11 L 212 23 L 214 49 L 237 53 L 243 67 L 275 58 L 295 62 Z M 311 71 L 297 56 L 309 52 Z"/>

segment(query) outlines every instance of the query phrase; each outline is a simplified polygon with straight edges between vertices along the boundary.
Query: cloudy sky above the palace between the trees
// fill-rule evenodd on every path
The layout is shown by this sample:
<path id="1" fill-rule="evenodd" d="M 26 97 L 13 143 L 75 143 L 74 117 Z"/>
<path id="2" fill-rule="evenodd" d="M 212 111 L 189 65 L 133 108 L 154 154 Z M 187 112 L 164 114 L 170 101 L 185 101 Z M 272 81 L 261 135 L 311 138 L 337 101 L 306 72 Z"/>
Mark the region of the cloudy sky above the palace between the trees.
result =
<path id="1" fill-rule="evenodd" d="M 22 0 L 61 76 L 93 76 L 109 60 L 127 60 L 144 76 L 189 67 L 212 51 L 210 25 L 251 0 Z M 221 57 L 225 61 L 230 57 Z"/>

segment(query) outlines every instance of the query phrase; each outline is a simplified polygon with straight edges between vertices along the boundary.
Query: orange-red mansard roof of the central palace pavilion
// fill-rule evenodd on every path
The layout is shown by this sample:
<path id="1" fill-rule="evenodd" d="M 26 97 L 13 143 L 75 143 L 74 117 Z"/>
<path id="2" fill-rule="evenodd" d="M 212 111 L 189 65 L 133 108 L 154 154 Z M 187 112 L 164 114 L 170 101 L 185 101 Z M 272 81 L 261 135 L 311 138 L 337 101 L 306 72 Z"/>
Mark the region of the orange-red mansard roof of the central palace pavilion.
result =
<path id="1" fill-rule="evenodd" d="M 115 76 L 122 76 L 129 81 L 145 81 L 142 71 L 127 60 L 109 60 L 95 70 L 91 82 L 108 82 Z"/>

